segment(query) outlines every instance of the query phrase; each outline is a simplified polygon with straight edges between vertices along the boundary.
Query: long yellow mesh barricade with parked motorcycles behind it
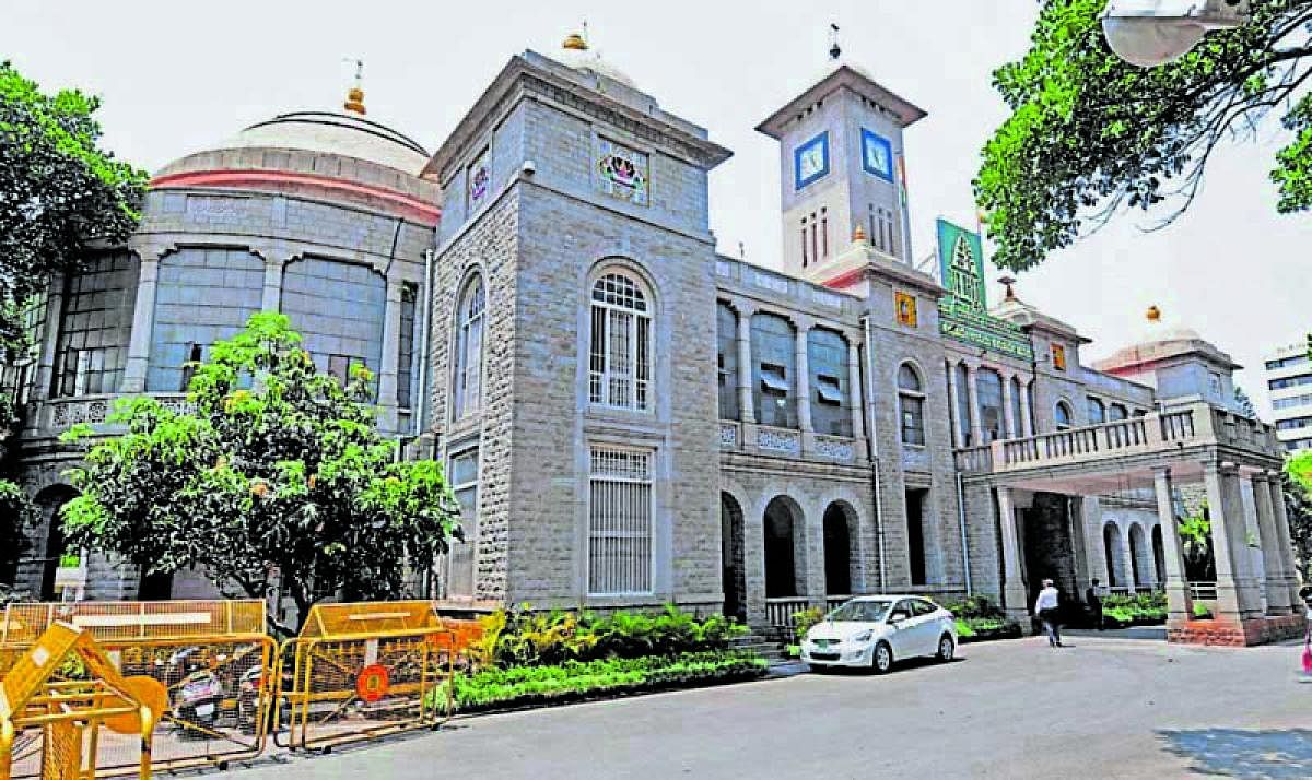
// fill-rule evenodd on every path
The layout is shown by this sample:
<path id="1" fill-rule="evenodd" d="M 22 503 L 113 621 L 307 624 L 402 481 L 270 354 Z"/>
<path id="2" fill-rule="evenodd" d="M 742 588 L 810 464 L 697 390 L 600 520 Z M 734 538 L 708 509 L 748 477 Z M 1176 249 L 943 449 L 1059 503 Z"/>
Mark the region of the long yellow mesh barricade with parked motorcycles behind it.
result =
<path id="1" fill-rule="evenodd" d="M 264 608 L 262 600 L 12 604 L 0 625 L 0 663 L 46 625 L 67 621 L 93 636 L 121 674 L 157 680 L 167 692 L 154 734 L 156 771 L 224 768 L 260 755 L 268 739 L 277 645 Z M 93 776 L 130 773 L 139 762 L 138 741 L 112 738 Z"/>

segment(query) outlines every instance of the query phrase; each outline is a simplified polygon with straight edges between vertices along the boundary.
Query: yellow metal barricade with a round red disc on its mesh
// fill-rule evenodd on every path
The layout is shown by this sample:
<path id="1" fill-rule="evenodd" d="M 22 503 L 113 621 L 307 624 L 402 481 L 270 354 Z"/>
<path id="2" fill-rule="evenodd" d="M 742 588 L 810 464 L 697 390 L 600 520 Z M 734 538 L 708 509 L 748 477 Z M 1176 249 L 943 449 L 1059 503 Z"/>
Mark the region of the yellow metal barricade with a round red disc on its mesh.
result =
<path id="1" fill-rule="evenodd" d="M 454 629 L 430 602 L 318 604 L 278 653 L 287 745 L 331 750 L 411 729 L 450 711 L 450 679 L 470 627 Z M 447 684 L 442 684 L 447 683 Z"/>

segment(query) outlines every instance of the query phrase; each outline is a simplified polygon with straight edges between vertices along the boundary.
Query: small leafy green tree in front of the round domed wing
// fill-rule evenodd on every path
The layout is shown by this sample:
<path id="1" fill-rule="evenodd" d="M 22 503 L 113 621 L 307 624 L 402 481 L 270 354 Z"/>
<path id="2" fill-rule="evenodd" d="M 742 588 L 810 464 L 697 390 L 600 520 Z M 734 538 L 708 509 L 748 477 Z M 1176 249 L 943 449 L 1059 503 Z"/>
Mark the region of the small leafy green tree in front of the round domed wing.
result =
<path id="1" fill-rule="evenodd" d="M 404 595 L 404 562 L 430 565 L 461 536 L 442 469 L 399 460 L 378 434 L 366 370 L 341 387 L 299 343 L 287 317 L 255 315 L 195 368 L 193 413 L 125 399 L 112 418 L 122 435 L 64 434 L 87 448 L 63 515 L 70 544 L 151 572 L 199 565 L 249 598 L 281 574 L 302 621 L 336 591 Z"/>

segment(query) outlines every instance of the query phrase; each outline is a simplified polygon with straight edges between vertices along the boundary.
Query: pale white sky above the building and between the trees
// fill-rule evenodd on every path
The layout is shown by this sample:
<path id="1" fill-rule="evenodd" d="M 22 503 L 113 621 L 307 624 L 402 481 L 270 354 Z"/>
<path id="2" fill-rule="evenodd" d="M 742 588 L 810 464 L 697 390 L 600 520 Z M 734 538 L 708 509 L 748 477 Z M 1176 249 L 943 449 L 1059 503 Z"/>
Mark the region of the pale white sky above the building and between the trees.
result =
<path id="1" fill-rule="evenodd" d="M 827 72 L 828 25 L 845 58 L 929 111 L 907 134 L 914 253 L 937 215 L 974 224 L 979 149 L 1005 118 L 991 72 L 1026 50 L 1035 0 L 819 0 L 644 4 L 482 0 L 0 0 L 0 58 L 43 88 L 105 100 L 105 143 L 147 169 L 297 109 L 340 106 L 366 62 L 370 118 L 433 149 L 506 59 L 559 51 L 586 18 L 592 42 L 661 106 L 735 151 L 711 174 L 720 250 L 777 265 L 778 149 L 752 130 Z M 1018 295 L 1096 340 L 1085 361 L 1134 341 L 1156 303 L 1249 366 L 1239 383 L 1267 410 L 1261 358 L 1312 328 L 1309 216 L 1278 216 L 1266 180 L 1281 139 L 1214 156 L 1203 195 L 1156 233 L 1126 215 L 1022 274 Z M 994 273 L 996 274 L 996 273 Z M 994 295 L 997 288 L 991 288 Z"/>

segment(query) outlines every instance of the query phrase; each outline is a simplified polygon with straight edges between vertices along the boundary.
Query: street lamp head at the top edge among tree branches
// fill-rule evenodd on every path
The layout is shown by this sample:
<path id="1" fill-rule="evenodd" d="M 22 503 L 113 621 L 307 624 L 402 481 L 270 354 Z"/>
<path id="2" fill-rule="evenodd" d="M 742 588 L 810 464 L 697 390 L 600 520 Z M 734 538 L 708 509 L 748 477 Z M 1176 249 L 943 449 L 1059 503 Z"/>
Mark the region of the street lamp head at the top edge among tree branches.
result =
<path id="1" fill-rule="evenodd" d="M 1111 51 L 1151 68 L 1183 56 L 1211 30 L 1249 20 L 1249 0 L 1110 0 L 1102 31 Z"/>

